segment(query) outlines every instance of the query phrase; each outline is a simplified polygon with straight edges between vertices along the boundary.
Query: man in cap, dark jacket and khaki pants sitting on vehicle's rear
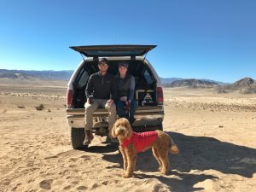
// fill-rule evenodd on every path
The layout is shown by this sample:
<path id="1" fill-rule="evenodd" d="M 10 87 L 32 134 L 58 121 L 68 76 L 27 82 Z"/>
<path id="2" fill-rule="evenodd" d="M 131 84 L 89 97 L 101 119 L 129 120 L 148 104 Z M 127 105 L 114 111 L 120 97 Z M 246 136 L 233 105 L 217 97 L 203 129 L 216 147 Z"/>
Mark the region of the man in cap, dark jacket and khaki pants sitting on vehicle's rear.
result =
<path id="1" fill-rule="evenodd" d="M 116 82 L 113 75 L 108 73 L 108 60 L 101 58 L 98 63 L 99 72 L 90 75 L 85 89 L 87 98 L 84 104 L 84 145 L 89 145 L 93 139 L 91 131 L 93 125 L 93 113 L 96 108 L 106 108 L 108 110 L 108 130 L 113 127 L 116 119 Z"/>

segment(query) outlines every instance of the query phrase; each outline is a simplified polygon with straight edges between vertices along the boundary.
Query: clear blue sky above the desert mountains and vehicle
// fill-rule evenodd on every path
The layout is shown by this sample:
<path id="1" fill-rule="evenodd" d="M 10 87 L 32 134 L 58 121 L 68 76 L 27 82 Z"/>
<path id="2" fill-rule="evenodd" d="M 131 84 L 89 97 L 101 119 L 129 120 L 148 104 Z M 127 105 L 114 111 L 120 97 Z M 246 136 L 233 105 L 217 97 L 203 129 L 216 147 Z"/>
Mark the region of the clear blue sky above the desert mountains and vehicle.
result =
<path id="1" fill-rule="evenodd" d="M 0 68 L 73 70 L 73 45 L 156 44 L 163 78 L 256 79 L 254 0 L 0 0 Z"/>

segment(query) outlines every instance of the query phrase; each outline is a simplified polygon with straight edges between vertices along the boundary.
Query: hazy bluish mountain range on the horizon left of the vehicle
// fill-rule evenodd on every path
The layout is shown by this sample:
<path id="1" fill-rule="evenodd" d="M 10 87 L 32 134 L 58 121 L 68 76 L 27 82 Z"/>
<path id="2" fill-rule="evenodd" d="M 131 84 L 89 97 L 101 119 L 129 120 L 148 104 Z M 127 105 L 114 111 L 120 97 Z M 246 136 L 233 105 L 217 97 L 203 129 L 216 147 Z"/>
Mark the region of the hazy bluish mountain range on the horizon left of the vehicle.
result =
<path id="1" fill-rule="evenodd" d="M 47 79 L 69 80 L 73 71 L 26 71 L 0 69 L 0 78 L 3 79 Z"/>

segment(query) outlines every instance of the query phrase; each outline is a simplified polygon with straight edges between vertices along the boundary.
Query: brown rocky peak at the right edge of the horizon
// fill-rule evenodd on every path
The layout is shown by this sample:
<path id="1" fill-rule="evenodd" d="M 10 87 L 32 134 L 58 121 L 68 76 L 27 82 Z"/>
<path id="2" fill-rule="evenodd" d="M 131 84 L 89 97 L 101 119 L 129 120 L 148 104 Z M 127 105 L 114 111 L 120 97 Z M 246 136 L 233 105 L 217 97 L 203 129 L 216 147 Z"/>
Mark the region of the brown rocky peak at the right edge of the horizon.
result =
<path id="1" fill-rule="evenodd" d="M 218 92 L 239 91 L 241 93 L 256 93 L 256 80 L 244 78 L 236 81 L 233 84 L 227 84 L 218 87 Z"/>

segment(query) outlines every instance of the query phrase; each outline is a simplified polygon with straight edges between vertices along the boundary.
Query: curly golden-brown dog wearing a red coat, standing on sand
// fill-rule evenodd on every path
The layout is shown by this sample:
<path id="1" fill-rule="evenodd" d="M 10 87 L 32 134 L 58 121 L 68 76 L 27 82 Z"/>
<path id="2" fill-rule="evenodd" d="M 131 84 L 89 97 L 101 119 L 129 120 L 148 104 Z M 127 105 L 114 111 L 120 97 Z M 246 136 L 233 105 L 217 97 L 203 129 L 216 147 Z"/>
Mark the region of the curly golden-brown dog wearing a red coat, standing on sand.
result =
<path id="1" fill-rule="evenodd" d="M 131 177 L 134 171 L 137 153 L 152 148 L 155 159 L 160 167 L 159 171 L 166 174 L 169 168 L 168 152 L 178 153 L 178 148 L 172 138 L 163 131 L 148 131 L 137 133 L 132 131 L 131 124 L 125 118 L 117 119 L 110 131 L 112 137 L 119 140 L 119 150 L 123 155 L 123 177 Z"/>

